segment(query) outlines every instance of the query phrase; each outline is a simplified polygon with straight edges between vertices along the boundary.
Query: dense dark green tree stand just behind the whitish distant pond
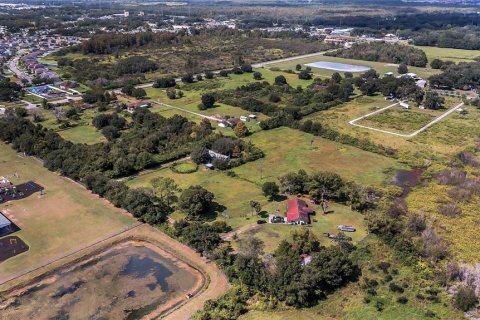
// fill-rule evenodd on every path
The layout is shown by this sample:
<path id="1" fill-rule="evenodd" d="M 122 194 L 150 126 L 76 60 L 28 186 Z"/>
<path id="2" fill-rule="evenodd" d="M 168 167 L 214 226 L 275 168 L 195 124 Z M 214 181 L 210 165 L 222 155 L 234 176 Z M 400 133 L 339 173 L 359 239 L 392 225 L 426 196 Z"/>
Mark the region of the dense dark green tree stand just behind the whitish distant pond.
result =
<path id="1" fill-rule="evenodd" d="M 427 55 L 420 49 L 385 42 L 355 43 L 351 48 L 327 52 L 325 55 L 346 59 L 403 63 L 409 66 L 425 67 Z"/>

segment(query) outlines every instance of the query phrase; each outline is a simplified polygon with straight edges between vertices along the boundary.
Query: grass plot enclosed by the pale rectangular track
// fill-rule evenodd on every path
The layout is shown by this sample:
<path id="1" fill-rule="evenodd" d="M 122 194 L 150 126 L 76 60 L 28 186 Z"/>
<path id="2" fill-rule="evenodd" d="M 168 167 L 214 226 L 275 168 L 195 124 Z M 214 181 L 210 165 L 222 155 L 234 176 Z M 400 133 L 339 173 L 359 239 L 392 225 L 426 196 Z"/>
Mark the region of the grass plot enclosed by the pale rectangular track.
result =
<path id="1" fill-rule="evenodd" d="M 434 112 L 416 112 L 414 109 L 404 110 L 395 106 L 380 113 L 357 121 L 357 124 L 383 129 L 391 132 L 408 134 L 420 129 L 435 119 Z M 432 111 L 432 110 L 424 110 Z"/>

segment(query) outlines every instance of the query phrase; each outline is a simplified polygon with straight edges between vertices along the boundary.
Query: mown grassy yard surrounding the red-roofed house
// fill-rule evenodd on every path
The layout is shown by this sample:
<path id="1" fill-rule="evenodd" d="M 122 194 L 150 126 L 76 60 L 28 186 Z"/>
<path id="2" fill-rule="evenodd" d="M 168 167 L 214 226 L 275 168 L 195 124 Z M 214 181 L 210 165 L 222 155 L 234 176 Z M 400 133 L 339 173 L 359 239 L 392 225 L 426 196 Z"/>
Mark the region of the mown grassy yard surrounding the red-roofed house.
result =
<path id="1" fill-rule="evenodd" d="M 356 232 L 347 233 L 347 236 L 352 237 L 354 243 L 357 243 L 366 236 L 364 216 L 359 212 L 352 211 L 348 206 L 330 203 L 328 214 L 323 214 L 322 209 L 318 205 L 309 203 L 309 207 L 316 212 L 314 216 L 311 216 L 311 225 L 301 226 L 273 223 L 259 225 L 257 228 L 239 234 L 238 240 L 232 243 L 233 247 L 237 248 L 238 241 L 242 239 L 256 237 L 265 243 L 265 253 L 273 253 L 281 240 L 291 240 L 292 232 L 300 229 L 309 229 L 318 237 L 322 245 L 328 246 L 333 242 L 328 239 L 324 233 L 337 234 L 337 226 L 340 224 L 354 226 L 357 229 Z M 278 209 L 276 215 L 284 216 L 287 209 L 286 202 L 274 202 L 273 208 L 275 210 Z M 275 214 L 275 212 L 276 211 L 272 211 L 271 213 Z"/>

